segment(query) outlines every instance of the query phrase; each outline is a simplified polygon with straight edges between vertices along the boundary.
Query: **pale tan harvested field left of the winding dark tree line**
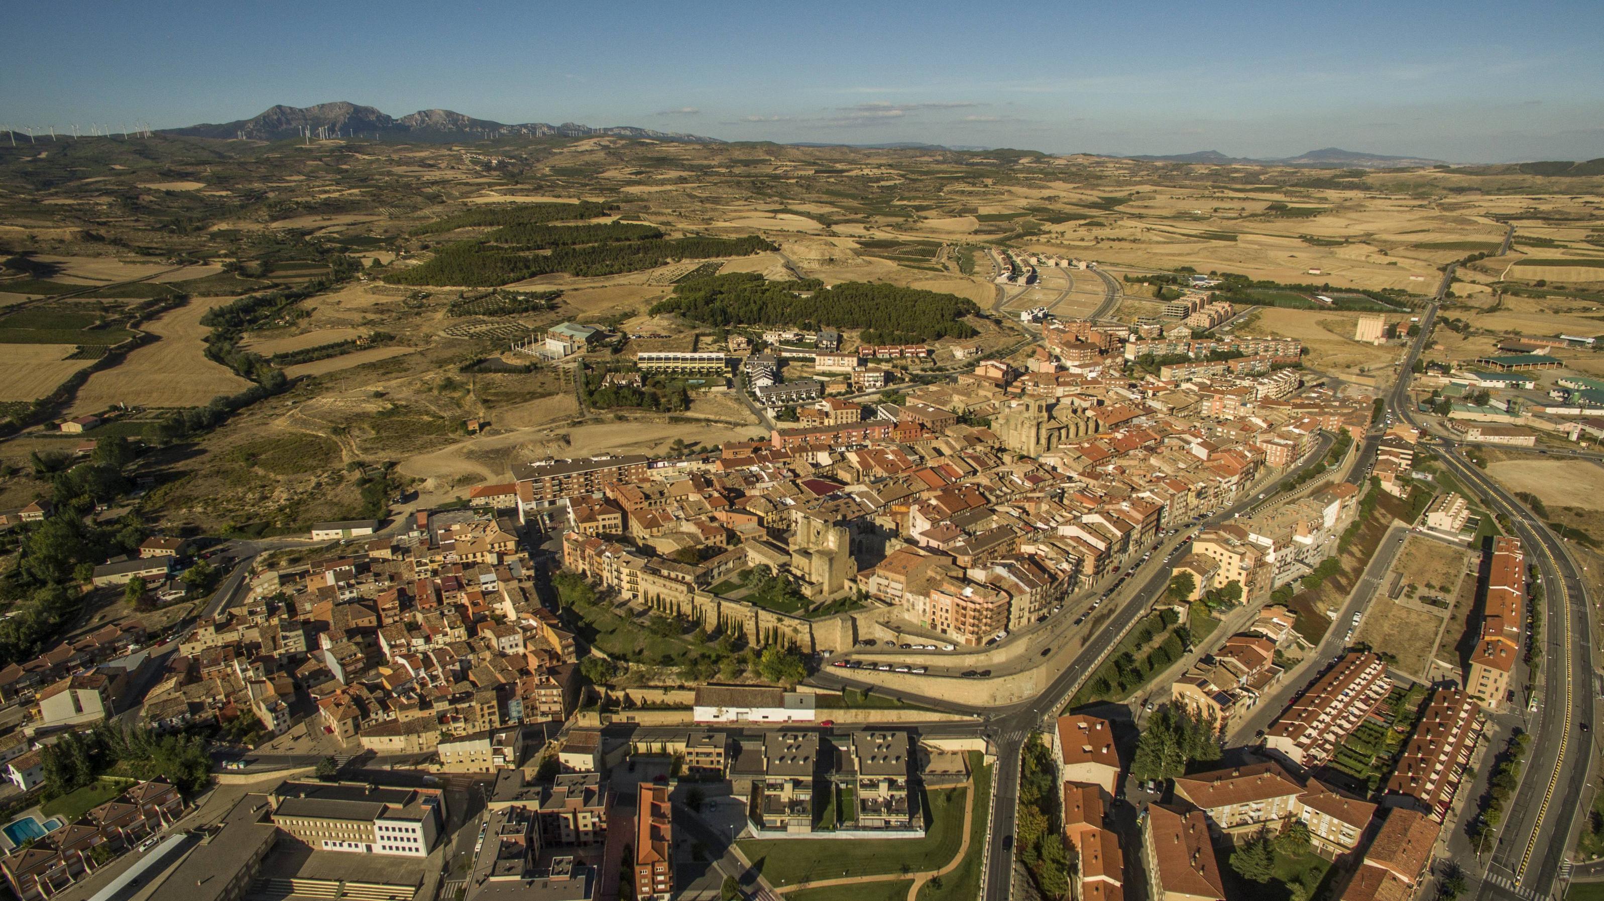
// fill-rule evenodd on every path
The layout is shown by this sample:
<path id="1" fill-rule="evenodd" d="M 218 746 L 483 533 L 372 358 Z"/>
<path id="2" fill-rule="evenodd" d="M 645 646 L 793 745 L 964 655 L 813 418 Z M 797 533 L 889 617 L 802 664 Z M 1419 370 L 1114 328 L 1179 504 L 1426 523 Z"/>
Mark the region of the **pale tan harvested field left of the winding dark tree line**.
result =
<path id="1" fill-rule="evenodd" d="M 72 402 L 72 415 L 104 410 L 112 404 L 148 407 L 199 407 L 218 394 L 236 394 L 250 382 L 205 356 L 200 325 L 205 311 L 231 297 L 194 298 L 164 313 L 143 329 L 156 341 L 128 351 L 120 364 L 90 375 Z"/>

